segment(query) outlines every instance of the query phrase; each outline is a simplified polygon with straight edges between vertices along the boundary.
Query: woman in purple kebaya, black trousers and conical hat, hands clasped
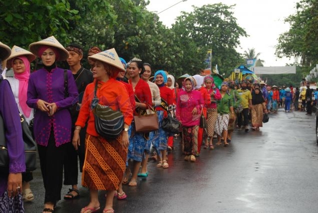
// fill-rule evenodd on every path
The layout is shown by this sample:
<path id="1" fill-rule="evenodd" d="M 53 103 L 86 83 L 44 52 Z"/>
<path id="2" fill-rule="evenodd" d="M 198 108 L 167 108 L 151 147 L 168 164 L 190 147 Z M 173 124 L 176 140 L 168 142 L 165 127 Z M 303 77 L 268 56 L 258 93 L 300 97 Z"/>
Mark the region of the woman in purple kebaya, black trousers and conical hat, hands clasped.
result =
<path id="1" fill-rule="evenodd" d="M 45 198 L 43 212 L 53 212 L 61 199 L 65 143 L 71 142 L 72 120 L 68 107 L 76 103 L 77 86 L 70 70 L 67 74 L 56 61 L 66 60 L 69 52 L 54 36 L 31 43 L 32 53 L 43 61 L 43 68 L 30 75 L 27 104 L 35 108 L 34 135 L 38 143 Z"/>

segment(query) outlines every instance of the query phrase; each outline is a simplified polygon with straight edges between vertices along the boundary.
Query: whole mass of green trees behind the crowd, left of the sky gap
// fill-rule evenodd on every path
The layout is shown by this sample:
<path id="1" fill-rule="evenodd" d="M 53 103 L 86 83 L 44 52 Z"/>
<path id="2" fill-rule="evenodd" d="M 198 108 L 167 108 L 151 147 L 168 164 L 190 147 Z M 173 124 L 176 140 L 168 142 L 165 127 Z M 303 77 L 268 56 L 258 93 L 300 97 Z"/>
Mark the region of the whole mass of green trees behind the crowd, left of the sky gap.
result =
<path id="1" fill-rule="evenodd" d="M 233 16 L 235 5 L 222 3 L 193 7 L 166 27 L 148 0 L 11 0 L 0 3 L 1 41 L 28 48 L 32 42 L 54 35 L 63 45 L 79 43 L 115 47 L 126 60 L 135 56 L 178 76 L 199 73 L 207 49 L 212 65 L 229 73 L 244 62 L 235 48 L 247 36 Z M 84 61 L 85 62 L 85 61 Z"/>

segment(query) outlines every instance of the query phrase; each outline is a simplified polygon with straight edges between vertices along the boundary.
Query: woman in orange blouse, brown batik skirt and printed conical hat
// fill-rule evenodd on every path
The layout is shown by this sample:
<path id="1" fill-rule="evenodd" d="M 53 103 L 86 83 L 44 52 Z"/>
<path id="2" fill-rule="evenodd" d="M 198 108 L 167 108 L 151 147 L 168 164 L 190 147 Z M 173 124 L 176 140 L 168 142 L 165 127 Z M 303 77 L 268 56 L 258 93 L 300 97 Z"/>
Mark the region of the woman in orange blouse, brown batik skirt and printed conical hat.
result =
<path id="1" fill-rule="evenodd" d="M 73 145 L 80 145 L 79 132 L 88 121 L 86 134 L 86 157 L 82 173 L 82 185 L 90 189 L 91 201 L 82 208 L 81 213 L 95 212 L 100 209 L 98 190 L 107 190 L 104 213 L 114 212 L 113 198 L 126 168 L 128 127 L 133 119 L 133 111 L 124 84 L 115 78 L 123 69 L 115 49 L 105 50 L 92 56 L 94 82 L 87 85 L 80 114 L 75 123 Z M 124 130 L 116 139 L 109 141 L 101 137 L 95 129 L 95 118 L 91 107 L 95 84 L 99 103 L 120 110 L 124 115 Z"/>

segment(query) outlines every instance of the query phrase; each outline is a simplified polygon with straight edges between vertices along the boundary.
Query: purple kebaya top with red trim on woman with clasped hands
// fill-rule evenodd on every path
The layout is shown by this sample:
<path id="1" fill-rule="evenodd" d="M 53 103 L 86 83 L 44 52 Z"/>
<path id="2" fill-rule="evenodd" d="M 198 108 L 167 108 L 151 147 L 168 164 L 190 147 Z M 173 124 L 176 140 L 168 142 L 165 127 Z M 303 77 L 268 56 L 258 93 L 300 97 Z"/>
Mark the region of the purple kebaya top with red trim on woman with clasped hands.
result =
<path id="1" fill-rule="evenodd" d="M 69 96 L 65 97 L 64 69 L 56 67 L 48 71 L 41 68 L 30 75 L 27 100 L 29 107 L 37 108 L 39 99 L 49 103 L 55 102 L 58 106 L 57 112 L 52 116 L 36 110 L 34 135 L 40 145 L 48 145 L 52 126 L 57 147 L 71 141 L 72 120 L 68 107 L 76 102 L 78 91 L 70 70 L 67 71 L 67 76 Z"/>

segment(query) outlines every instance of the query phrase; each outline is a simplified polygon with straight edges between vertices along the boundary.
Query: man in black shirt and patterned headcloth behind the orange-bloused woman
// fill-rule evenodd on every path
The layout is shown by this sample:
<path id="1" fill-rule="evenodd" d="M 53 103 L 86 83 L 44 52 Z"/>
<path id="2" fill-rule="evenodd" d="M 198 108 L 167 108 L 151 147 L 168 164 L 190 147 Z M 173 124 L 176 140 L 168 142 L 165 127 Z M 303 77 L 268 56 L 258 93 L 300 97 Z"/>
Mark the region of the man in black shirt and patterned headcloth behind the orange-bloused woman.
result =
<path id="1" fill-rule="evenodd" d="M 93 82 L 93 73 L 84 68 L 81 65 L 81 60 L 83 58 L 83 49 L 78 44 L 70 44 L 67 48 L 69 51 L 69 57 L 67 58 L 67 62 L 70 65 L 70 69 L 73 73 L 77 89 L 79 92 L 78 102 L 74 103 L 73 107 L 70 109 L 71 117 L 72 117 L 72 137 L 75 128 L 75 122 L 79 115 L 79 109 L 81 107 L 83 94 L 86 86 Z M 67 143 L 67 154 L 64 161 L 64 184 L 72 185 L 70 191 L 64 196 L 65 199 L 73 199 L 79 196 L 79 191 L 77 188 L 77 178 L 78 178 L 78 162 L 77 155 L 79 155 L 80 159 L 80 171 L 82 171 L 84 158 L 85 158 L 85 134 L 86 127 L 81 129 L 80 137 L 81 137 L 81 145 L 79 146 L 78 153 L 76 152 L 72 142 Z"/>

